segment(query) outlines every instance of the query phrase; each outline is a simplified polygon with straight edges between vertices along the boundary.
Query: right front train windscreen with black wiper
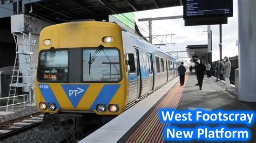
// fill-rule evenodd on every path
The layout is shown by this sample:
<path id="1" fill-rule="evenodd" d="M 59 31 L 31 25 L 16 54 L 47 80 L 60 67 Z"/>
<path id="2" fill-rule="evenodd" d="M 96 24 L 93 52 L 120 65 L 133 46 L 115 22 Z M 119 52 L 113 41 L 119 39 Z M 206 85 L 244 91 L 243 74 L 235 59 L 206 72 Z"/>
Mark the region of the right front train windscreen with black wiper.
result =
<path id="1" fill-rule="evenodd" d="M 121 79 L 120 57 L 117 49 L 83 49 L 83 81 L 119 81 Z"/>

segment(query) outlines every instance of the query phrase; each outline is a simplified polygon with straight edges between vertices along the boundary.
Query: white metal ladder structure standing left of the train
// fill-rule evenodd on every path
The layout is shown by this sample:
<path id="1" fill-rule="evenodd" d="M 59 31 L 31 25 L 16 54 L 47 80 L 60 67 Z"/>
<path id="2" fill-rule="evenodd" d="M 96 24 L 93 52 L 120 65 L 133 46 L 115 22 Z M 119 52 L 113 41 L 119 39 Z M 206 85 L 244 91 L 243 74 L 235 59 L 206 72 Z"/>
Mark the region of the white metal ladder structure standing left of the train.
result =
<path id="1" fill-rule="evenodd" d="M 35 93 L 30 91 L 35 89 L 35 74 L 33 75 L 33 73 L 36 69 L 32 69 L 32 55 L 36 41 L 31 39 L 31 33 L 29 33 L 29 38 L 23 32 L 16 32 L 12 34 L 14 35 L 16 43 L 16 56 L 14 68 L 12 69 L 6 111 L 8 111 L 9 106 L 11 106 L 11 110 L 13 111 L 14 105 L 24 104 L 23 108 L 25 108 L 25 103 L 35 102 Z M 23 44 L 19 43 L 19 39 L 21 39 L 19 38 L 20 35 L 22 35 Z M 25 94 L 23 96 L 23 102 L 15 103 L 15 99 L 17 99 L 17 97 L 22 97 L 21 95 L 17 95 L 17 88 L 23 88 L 24 90 L 25 87 L 29 88 L 29 97 Z"/>

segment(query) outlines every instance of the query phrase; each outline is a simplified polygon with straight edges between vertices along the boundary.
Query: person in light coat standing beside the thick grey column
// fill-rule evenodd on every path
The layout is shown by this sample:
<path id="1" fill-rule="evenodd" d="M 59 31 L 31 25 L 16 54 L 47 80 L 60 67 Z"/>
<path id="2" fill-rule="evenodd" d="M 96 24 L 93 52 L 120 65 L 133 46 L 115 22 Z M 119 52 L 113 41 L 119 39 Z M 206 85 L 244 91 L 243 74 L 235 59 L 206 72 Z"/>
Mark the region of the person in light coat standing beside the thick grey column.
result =
<path id="1" fill-rule="evenodd" d="M 223 77 L 225 78 L 226 88 L 224 90 L 230 90 L 230 71 L 231 71 L 231 62 L 228 60 L 227 56 L 224 57 L 224 61 L 220 62 L 223 66 L 224 73 Z"/>

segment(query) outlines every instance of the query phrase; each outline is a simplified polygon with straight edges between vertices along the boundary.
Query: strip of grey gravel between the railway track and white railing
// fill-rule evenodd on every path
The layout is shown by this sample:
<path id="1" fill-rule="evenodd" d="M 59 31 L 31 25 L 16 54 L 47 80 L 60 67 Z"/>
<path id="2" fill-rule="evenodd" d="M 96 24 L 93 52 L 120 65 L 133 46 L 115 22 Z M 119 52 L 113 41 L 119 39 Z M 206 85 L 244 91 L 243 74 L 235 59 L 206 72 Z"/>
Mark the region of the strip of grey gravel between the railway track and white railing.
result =
<path id="1" fill-rule="evenodd" d="M 16 111 L 16 112 L 8 114 L 8 115 L 0 115 L 0 122 L 15 119 L 15 118 L 26 116 L 26 115 L 30 115 L 31 113 L 36 113 L 36 112 L 39 112 L 37 107 L 26 107 L 25 110 Z"/>

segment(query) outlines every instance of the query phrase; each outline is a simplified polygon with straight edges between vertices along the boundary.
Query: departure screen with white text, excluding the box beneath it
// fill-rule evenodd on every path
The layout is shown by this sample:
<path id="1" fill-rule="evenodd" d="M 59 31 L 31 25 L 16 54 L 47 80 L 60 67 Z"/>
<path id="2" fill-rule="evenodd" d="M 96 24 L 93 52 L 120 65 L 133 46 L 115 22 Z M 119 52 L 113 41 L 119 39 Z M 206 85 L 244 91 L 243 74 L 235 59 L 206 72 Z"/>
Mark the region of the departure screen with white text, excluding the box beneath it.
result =
<path id="1" fill-rule="evenodd" d="M 233 0 L 184 0 L 184 19 L 232 17 Z"/>

